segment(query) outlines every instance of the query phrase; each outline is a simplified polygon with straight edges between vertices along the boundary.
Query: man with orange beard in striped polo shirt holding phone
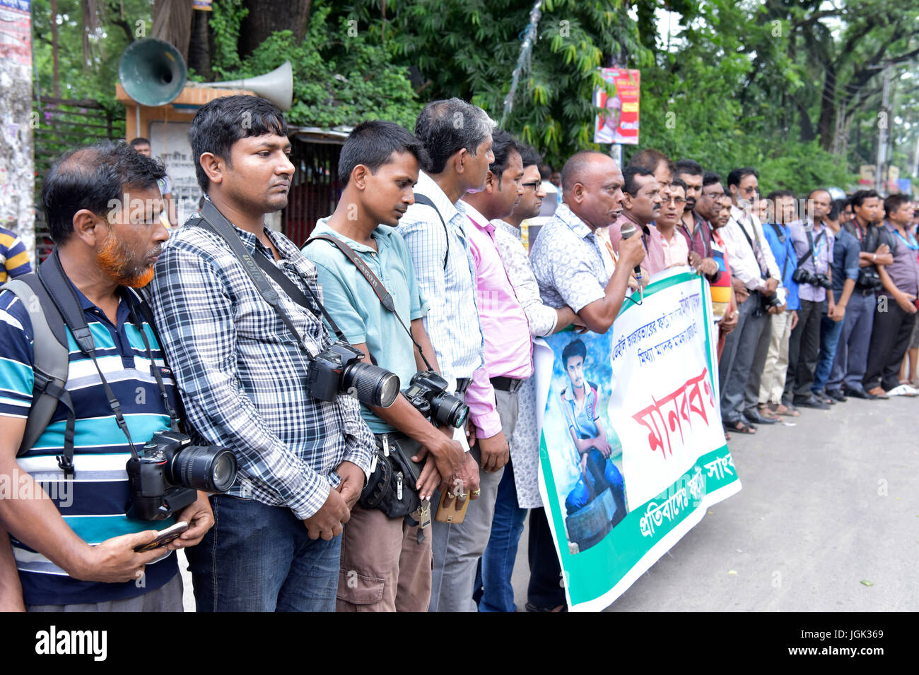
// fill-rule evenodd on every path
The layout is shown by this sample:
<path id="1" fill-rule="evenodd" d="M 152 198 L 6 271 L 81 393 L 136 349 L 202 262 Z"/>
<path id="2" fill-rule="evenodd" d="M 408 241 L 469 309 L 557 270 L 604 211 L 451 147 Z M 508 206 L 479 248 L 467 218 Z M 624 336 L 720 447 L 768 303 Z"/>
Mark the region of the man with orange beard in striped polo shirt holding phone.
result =
<path id="1" fill-rule="evenodd" d="M 155 525 L 126 517 L 130 445 L 101 375 L 119 400 L 135 446 L 169 427 L 157 371 L 173 410 L 175 382 L 153 328 L 139 318 L 133 290 L 149 283 L 168 238 L 156 186 L 163 174 L 160 163 L 107 142 L 64 156 L 45 180 L 42 201 L 56 255 L 96 343 L 97 368 L 67 329 L 73 475 L 57 459 L 67 424 L 60 402 L 38 441 L 17 457 L 33 403 L 35 335 L 27 308 L 11 291 L 0 291 L 0 523 L 11 534 L 14 554 L 0 536 L 0 581 L 9 587 L 15 559 L 20 608 L 29 611 L 180 612 L 173 550 L 197 544 L 213 523 L 203 492 Z M 153 541 L 154 527 L 180 520 L 190 527 L 166 548 L 134 551 Z M 8 597 L 0 600 L 11 606 Z"/>

